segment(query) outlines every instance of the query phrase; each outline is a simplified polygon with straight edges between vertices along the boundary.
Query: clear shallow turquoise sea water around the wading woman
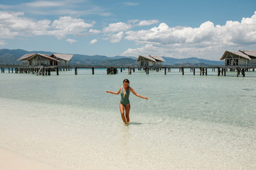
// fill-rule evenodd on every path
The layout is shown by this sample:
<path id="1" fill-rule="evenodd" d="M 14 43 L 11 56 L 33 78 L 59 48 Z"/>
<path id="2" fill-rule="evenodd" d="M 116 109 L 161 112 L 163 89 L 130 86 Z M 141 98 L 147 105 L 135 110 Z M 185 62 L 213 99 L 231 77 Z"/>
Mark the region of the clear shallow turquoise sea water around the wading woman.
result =
<path id="1" fill-rule="evenodd" d="M 211 71 L 211 70 L 210 70 Z M 59 169 L 255 169 L 256 72 L 0 74 L 0 147 Z M 119 113 L 122 80 L 129 126 Z"/>

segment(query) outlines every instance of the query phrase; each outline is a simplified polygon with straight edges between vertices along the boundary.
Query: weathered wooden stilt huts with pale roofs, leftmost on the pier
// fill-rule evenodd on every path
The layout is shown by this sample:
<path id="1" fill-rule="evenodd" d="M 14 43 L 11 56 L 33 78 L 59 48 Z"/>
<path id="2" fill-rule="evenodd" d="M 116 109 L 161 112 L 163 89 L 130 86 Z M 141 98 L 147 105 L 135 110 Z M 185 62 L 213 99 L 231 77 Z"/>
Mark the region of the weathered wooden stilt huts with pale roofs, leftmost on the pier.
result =
<path id="1" fill-rule="evenodd" d="M 23 55 L 17 61 L 22 61 L 24 66 L 43 65 L 68 67 L 72 57 L 73 55 L 52 54 L 49 56 L 36 53 Z"/>

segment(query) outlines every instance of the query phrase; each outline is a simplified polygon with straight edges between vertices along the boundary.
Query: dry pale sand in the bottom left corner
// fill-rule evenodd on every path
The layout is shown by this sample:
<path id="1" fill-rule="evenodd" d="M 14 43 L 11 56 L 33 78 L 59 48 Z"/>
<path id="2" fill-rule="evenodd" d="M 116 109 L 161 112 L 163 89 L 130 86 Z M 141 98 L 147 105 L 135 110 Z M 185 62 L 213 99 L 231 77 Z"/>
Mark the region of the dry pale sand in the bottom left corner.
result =
<path id="1" fill-rule="evenodd" d="M 0 148 L 0 169 L 2 170 L 58 170 L 57 168 L 28 159 L 20 154 Z"/>

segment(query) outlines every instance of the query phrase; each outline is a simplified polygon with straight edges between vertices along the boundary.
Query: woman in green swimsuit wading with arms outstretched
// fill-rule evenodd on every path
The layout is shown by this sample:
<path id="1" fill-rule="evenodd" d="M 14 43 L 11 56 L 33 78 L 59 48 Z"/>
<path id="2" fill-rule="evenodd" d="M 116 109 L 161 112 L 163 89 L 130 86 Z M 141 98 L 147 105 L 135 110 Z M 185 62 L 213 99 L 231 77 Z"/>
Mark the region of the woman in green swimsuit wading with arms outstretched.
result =
<path id="1" fill-rule="evenodd" d="M 135 96 L 138 96 L 138 97 L 144 98 L 144 99 L 148 99 L 147 97 L 137 94 L 134 91 L 134 89 L 132 89 L 132 87 L 129 86 L 128 79 L 124 79 L 123 86 L 120 87 L 119 91 L 117 91 L 117 92 L 106 91 L 107 93 L 110 93 L 110 94 L 120 94 L 120 92 L 121 92 L 121 101 L 119 103 L 119 108 L 120 108 L 122 120 L 124 121 L 124 125 L 127 125 L 127 123 L 129 123 L 129 110 L 131 108 L 130 103 L 129 103 L 129 93 L 131 91 Z M 125 116 L 124 116 L 124 108 L 125 108 Z"/>

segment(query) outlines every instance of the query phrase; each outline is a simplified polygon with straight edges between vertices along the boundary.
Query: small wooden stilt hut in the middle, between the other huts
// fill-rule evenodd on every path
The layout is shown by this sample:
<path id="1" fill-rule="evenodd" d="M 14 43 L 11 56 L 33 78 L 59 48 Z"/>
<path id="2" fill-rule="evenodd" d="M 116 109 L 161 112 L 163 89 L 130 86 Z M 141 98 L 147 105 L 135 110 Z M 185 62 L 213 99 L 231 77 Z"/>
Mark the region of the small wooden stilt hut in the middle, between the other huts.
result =
<path id="1" fill-rule="evenodd" d="M 139 67 L 160 68 L 161 62 L 166 62 L 161 56 L 139 55 Z"/>

